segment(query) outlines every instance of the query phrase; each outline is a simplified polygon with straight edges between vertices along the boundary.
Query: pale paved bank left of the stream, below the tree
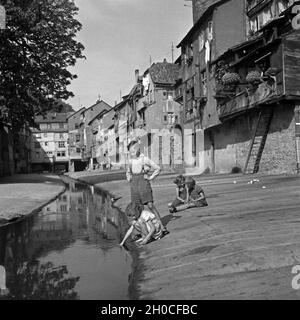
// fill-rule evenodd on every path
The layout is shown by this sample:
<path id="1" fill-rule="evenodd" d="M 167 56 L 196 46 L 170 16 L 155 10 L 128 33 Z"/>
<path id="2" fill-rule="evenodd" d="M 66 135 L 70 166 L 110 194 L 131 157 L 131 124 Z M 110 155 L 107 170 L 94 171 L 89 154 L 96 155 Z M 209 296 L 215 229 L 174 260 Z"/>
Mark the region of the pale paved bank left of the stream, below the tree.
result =
<path id="1" fill-rule="evenodd" d="M 38 211 L 64 190 L 57 175 L 28 174 L 0 179 L 0 227 Z"/>

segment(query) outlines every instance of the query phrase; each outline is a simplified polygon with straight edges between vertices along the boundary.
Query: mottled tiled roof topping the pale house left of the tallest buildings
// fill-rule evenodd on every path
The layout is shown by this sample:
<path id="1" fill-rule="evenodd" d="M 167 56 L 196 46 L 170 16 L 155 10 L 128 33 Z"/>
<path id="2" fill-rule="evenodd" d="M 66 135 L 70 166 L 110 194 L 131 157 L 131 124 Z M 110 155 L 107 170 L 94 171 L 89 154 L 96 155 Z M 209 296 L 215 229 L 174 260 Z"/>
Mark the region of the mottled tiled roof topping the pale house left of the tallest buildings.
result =
<path id="1" fill-rule="evenodd" d="M 173 85 L 178 78 L 179 66 L 167 61 L 158 62 L 149 68 L 149 73 L 154 83 Z"/>

